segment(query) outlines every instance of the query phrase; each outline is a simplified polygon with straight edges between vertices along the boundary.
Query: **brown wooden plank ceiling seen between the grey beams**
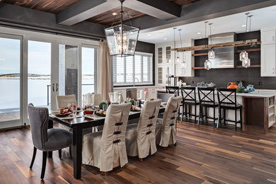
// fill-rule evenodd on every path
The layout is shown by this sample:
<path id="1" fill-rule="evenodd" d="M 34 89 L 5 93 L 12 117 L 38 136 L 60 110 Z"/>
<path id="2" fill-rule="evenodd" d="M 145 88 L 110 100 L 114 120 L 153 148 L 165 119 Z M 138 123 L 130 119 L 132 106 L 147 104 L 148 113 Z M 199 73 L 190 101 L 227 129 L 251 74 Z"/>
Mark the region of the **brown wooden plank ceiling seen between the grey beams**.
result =
<path id="1" fill-rule="evenodd" d="M 23 6 L 25 8 L 32 8 L 38 11 L 45 11 L 48 13 L 59 13 L 69 8 L 69 6 L 76 4 L 79 1 L 81 0 L 3 0 L 3 2 L 6 4 Z M 171 1 L 175 4 L 183 6 L 200 0 L 167 0 L 167 1 Z M 124 8 L 124 11 L 129 14 L 130 20 L 134 18 L 140 18 L 142 16 L 146 16 L 145 13 L 134 11 L 126 7 Z M 114 17 L 112 13 L 117 13 L 117 16 Z M 129 20 L 127 13 L 124 13 L 123 21 Z M 87 21 L 91 21 L 93 23 L 100 23 L 103 25 L 112 25 L 114 21 L 114 25 L 116 25 L 117 23 L 120 23 L 120 7 L 114 8 L 111 11 L 100 13 L 98 16 L 89 18 Z"/>

